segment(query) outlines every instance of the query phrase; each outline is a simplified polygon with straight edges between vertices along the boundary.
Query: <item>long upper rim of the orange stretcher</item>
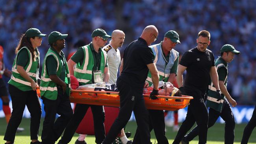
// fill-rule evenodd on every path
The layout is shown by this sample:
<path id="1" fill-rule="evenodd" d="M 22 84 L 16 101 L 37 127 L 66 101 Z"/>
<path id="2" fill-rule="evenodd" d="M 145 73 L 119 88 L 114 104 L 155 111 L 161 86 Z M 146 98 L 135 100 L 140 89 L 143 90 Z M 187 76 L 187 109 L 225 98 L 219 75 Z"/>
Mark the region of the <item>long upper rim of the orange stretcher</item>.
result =
<path id="1" fill-rule="evenodd" d="M 71 90 L 72 92 L 85 92 L 85 93 L 95 93 L 95 94 L 119 94 L 119 92 L 109 92 L 109 91 L 94 91 L 94 90 Z M 143 96 L 150 97 L 149 94 L 143 94 Z M 158 95 L 158 98 L 167 98 L 167 99 L 182 99 L 182 100 L 192 100 L 192 96 L 182 95 L 180 96 L 161 96 Z"/>

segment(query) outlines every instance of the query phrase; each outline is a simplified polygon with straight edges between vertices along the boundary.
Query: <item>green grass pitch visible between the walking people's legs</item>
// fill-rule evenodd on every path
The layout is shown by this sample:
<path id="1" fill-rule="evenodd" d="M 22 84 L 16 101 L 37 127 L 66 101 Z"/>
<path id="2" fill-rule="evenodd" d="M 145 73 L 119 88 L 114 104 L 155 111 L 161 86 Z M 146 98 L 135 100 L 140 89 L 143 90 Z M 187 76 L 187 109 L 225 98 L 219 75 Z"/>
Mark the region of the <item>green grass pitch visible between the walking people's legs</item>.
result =
<path id="1" fill-rule="evenodd" d="M 42 132 L 42 124 L 43 124 L 43 120 L 41 120 L 39 135 L 41 135 L 41 132 Z M 240 141 L 243 135 L 243 129 L 245 126 L 246 124 L 236 125 L 234 144 L 240 144 Z M 20 124 L 20 127 L 24 127 L 25 131 L 23 131 L 22 133 L 16 134 L 15 144 L 29 144 L 30 143 L 30 119 L 23 118 Z M 6 130 L 6 121 L 4 118 L 0 118 L 0 144 L 4 144 L 5 142 L 3 140 L 5 130 Z M 136 130 L 136 123 L 128 122 L 126 126 L 126 131 L 132 132 L 132 137 L 134 137 L 135 130 Z M 249 144 L 256 144 L 255 131 L 256 130 L 254 130 L 252 132 L 252 135 L 250 136 Z M 167 135 L 167 138 L 169 139 L 169 143 L 171 144 L 173 142 L 174 137 L 176 136 L 176 132 L 172 131 L 172 127 L 167 127 L 166 135 Z M 78 137 L 78 134 L 75 134 L 70 144 L 74 144 L 77 137 Z M 132 138 L 129 138 L 129 139 L 132 139 Z M 154 144 L 154 139 L 155 139 L 155 135 L 154 135 L 154 132 L 152 131 L 151 142 L 153 142 L 153 144 Z M 41 140 L 41 137 L 39 137 L 39 140 Z M 87 144 L 95 144 L 95 137 L 87 136 L 86 142 Z M 196 137 L 195 140 L 191 141 L 190 144 L 198 144 L 198 137 Z M 224 124 L 215 124 L 213 127 L 211 127 L 208 130 L 207 144 L 224 144 Z"/>

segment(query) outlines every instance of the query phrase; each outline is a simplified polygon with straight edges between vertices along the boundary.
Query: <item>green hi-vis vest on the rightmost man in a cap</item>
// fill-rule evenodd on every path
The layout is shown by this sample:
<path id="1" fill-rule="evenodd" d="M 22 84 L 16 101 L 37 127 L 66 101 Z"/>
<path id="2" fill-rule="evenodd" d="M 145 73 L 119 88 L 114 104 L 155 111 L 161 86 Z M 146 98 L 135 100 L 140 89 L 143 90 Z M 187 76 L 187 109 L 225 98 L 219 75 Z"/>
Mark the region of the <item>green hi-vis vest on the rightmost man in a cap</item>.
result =
<path id="1" fill-rule="evenodd" d="M 220 59 L 220 57 L 218 59 L 215 60 L 215 66 L 217 69 L 217 73 L 219 74 L 219 69 L 221 67 L 226 68 L 226 78 L 224 80 L 224 85 L 227 86 L 227 78 L 228 78 L 228 66 L 225 65 L 225 61 L 223 59 Z M 216 111 L 221 112 L 222 110 L 222 105 L 224 102 L 224 94 L 221 93 L 221 100 L 217 101 L 217 94 L 216 94 L 216 88 L 214 87 L 212 81 L 210 81 L 210 84 L 208 85 L 208 96 L 207 96 L 207 103 L 206 106 L 207 107 L 211 107 L 212 109 L 215 109 Z"/>

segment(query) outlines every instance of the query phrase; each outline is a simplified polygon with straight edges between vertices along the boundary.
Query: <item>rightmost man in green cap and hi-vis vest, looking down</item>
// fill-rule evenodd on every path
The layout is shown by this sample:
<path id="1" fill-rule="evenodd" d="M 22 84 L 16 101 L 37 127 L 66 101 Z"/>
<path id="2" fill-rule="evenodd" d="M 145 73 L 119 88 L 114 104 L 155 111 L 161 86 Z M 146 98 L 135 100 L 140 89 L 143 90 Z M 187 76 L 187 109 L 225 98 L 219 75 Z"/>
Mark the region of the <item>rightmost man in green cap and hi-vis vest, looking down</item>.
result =
<path id="1" fill-rule="evenodd" d="M 208 128 L 213 126 L 219 116 L 225 121 L 225 144 L 234 143 L 234 129 L 235 129 L 235 118 L 231 111 L 231 107 L 237 105 L 236 101 L 230 96 L 226 89 L 228 80 L 228 63 L 233 61 L 234 56 L 240 54 L 234 46 L 225 44 L 221 48 L 221 57 L 215 60 L 215 66 L 217 68 L 219 76 L 219 87 L 221 89 L 221 98 L 216 97 L 216 89 L 213 83 L 210 81 L 209 90 L 207 96 L 206 106 L 209 109 L 209 121 Z M 196 126 L 190 133 L 183 138 L 183 143 L 188 144 L 189 141 L 193 140 L 198 135 L 198 126 Z"/>

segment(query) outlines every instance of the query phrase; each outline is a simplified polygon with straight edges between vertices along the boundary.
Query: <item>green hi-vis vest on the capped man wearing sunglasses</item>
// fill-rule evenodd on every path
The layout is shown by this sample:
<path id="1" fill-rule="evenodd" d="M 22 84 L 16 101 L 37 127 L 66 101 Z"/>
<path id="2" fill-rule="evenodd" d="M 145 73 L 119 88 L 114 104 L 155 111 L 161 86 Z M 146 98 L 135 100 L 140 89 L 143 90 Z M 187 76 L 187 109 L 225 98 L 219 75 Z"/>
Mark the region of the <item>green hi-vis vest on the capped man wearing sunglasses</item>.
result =
<path id="1" fill-rule="evenodd" d="M 74 76 L 77 78 L 78 82 L 82 85 L 91 84 L 92 83 L 92 76 L 93 76 L 93 66 L 94 66 L 94 59 L 93 53 L 91 51 L 90 44 L 83 46 L 83 54 L 84 59 L 83 63 L 76 64 L 74 68 Z M 102 76 L 104 75 L 104 68 L 106 65 L 107 53 L 103 50 L 101 51 L 101 59 L 100 59 L 100 71 L 102 72 Z"/>

